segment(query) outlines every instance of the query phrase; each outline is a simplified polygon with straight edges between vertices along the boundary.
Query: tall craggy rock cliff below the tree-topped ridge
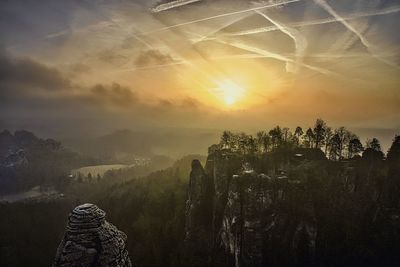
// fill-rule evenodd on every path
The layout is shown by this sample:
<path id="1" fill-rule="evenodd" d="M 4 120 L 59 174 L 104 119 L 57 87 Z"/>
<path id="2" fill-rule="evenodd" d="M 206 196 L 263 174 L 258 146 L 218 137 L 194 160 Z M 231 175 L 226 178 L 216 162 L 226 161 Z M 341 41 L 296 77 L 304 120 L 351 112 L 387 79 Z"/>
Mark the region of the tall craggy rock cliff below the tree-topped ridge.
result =
<path id="1" fill-rule="evenodd" d="M 205 205 L 212 227 L 203 227 L 197 246 L 192 242 L 190 247 L 218 251 L 208 266 L 314 265 L 315 212 L 302 182 L 285 174 L 258 174 L 232 156 L 210 155 L 205 169 L 192 164 L 186 236 L 195 235 L 193 226 L 204 218 L 193 211 Z"/>

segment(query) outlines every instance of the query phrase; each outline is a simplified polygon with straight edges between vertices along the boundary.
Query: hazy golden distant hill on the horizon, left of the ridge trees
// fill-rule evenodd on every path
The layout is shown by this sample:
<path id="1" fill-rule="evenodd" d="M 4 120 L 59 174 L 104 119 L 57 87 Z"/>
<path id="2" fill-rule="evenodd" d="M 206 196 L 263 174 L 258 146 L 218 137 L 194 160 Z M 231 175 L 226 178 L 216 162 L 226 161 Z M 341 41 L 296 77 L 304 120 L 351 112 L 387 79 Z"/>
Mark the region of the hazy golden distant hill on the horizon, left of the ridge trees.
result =
<path id="1" fill-rule="evenodd" d="M 118 130 L 94 138 L 65 139 L 63 143 L 74 151 L 109 163 L 131 164 L 136 157 L 206 154 L 208 145 L 216 142 L 219 134 L 198 129 Z"/>

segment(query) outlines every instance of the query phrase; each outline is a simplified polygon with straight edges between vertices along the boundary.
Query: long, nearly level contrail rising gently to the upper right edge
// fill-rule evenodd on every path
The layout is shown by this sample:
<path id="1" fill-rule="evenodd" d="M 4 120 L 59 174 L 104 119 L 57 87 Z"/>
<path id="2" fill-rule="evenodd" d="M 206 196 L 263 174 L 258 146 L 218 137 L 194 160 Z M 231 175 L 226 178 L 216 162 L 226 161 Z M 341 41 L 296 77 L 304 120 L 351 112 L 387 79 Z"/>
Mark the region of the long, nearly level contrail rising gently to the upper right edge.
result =
<path id="1" fill-rule="evenodd" d="M 380 11 L 354 13 L 350 16 L 341 17 L 340 19 L 326 18 L 326 19 L 311 20 L 311 21 L 306 21 L 306 22 L 290 23 L 287 25 L 289 27 L 322 25 L 322 24 L 328 24 L 328 23 L 336 23 L 336 22 L 354 20 L 354 19 L 363 18 L 363 17 L 387 15 L 387 14 L 396 13 L 399 11 L 400 11 L 400 6 L 396 6 L 396 7 L 386 8 L 386 9 L 383 9 Z M 267 26 L 267 27 L 254 28 L 254 29 L 250 29 L 250 30 L 238 31 L 238 32 L 233 32 L 233 33 L 224 33 L 224 34 L 221 34 L 221 36 L 241 36 L 241 35 L 250 35 L 250 34 L 256 34 L 256 33 L 276 31 L 276 30 L 279 30 L 279 28 L 276 26 Z"/>

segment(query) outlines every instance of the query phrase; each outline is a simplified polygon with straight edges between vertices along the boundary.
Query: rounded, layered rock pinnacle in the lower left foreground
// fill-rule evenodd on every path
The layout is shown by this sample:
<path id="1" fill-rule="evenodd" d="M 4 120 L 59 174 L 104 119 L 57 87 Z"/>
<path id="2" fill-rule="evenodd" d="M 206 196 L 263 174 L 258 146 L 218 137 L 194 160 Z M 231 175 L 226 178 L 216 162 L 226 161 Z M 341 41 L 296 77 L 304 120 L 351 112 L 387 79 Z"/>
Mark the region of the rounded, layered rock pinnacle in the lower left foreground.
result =
<path id="1" fill-rule="evenodd" d="M 132 266 L 125 248 L 126 235 L 105 216 L 94 204 L 76 207 L 69 215 L 54 266 Z"/>

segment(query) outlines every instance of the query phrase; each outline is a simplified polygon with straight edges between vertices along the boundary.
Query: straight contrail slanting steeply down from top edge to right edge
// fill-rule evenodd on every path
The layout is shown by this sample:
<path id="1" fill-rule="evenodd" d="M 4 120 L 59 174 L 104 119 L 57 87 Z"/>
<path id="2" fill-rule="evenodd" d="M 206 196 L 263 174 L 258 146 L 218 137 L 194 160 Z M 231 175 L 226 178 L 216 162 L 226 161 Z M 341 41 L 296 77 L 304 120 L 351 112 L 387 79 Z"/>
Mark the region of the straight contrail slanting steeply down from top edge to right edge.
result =
<path id="1" fill-rule="evenodd" d="M 390 62 L 385 58 L 382 58 L 381 55 L 375 53 L 373 51 L 373 45 L 357 29 L 344 20 L 325 0 L 314 0 L 314 2 L 325 9 L 325 11 L 331 14 L 337 21 L 340 21 L 349 31 L 352 31 L 360 39 L 361 43 L 368 49 L 372 56 L 392 67 L 400 69 L 400 66 L 397 66 L 395 63 Z"/>

